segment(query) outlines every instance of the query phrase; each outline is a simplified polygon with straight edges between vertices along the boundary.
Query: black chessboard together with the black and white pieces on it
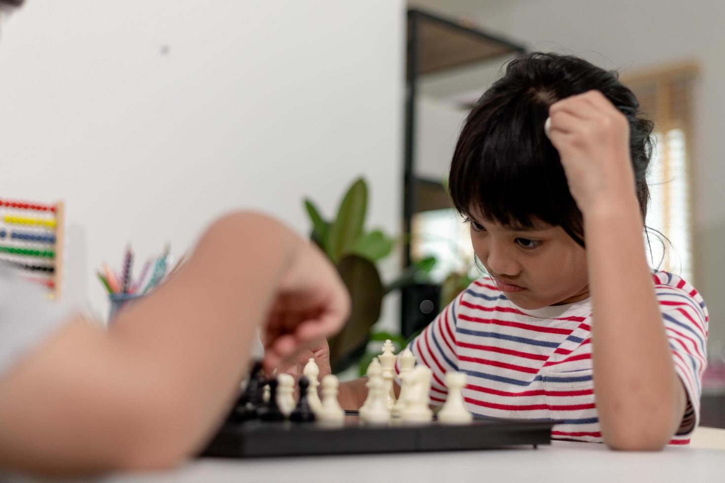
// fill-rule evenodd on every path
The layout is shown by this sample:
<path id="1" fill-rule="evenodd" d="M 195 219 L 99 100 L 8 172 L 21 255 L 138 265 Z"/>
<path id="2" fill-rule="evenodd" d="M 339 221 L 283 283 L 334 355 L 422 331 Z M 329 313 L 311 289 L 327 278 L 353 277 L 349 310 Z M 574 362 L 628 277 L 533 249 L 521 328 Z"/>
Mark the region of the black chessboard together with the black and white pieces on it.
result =
<path id="1" fill-rule="evenodd" d="M 448 396 L 434 414 L 428 406 L 431 370 L 416 366 L 410 350 L 395 356 L 393 349 L 391 341 L 386 340 L 381 355 L 370 362 L 368 395 L 359 411 L 340 407 L 339 381 L 331 374 L 320 381 L 320 370 L 313 358 L 297 380 L 299 397 L 294 396 L 294 377 L 268 377 L 257 361 L 224 424 L 201 455 L 255 458 L 484 450 L 518 445 L 536 448 L 549 444 L 556 421 L 474 417 L 463 400 L 461 390 L 466 376 L 460 372 L 445 375 Z M 393 381 L 397 360 L 402 385 L 396 398 Z"/>

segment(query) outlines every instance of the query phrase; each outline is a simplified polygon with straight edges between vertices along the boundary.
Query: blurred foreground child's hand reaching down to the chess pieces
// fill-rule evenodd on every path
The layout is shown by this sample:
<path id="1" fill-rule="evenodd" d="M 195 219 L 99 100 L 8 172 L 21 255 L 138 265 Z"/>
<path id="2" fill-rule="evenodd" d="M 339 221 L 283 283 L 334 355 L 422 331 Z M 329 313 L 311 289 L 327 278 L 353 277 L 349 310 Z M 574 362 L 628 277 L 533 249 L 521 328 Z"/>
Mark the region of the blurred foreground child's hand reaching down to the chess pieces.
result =
<path id="1" fill-rule="evenodd" d="M 349 293 L 334 266 L 315 245 L 303 243 L 283 276 L 262 329 L 265 368 L 288 372 L 282 369 L 283 364 L 292 361 L 294 365 L 303 357 L 307 363 L 308 358 L 315 357 L 326 361 L 326 368 L 320 364 L 323 361 L 318 362 L 320 373 L 326 370 L 329 374 L 325 339 L 341 329 L 349 311 Z"/>

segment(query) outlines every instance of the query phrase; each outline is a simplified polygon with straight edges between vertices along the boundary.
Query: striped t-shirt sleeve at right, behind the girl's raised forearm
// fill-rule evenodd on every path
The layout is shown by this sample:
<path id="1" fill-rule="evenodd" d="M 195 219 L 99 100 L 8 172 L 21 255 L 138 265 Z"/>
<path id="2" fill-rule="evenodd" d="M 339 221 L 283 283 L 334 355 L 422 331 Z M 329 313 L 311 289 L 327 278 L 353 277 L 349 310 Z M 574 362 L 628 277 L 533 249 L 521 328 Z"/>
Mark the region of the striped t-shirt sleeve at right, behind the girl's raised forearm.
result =
<path id="1" fill-rule="evenodd" d="M 677 431 L 677 436 L 682 437 L 691 433 L 700 420 L 708 309 L 697 290 L 677 275 L 658 272 L 654 281 L 672 360 L 687 392 L 687 408 Z"/>

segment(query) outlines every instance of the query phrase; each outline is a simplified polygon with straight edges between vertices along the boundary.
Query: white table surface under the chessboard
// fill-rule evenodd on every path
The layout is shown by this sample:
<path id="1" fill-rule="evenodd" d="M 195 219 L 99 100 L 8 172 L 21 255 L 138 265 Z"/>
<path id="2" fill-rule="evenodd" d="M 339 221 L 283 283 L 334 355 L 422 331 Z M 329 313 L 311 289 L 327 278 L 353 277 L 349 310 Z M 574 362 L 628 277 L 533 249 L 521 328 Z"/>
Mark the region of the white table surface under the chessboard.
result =
<path id="1" fill-rule="evenodd" d="M 43 482 L 13 479 L 17 482 Z M 47 481 L 47 480 L 46 480 Z M 59 480 L 53 480 L 57 482 Z M 158 473 L 64 480 L 73 483 L 221 482 L 725 482 L 725 451 L 669 447 L 658 453 L 622 453 L 604 445 L 552 442 L 455 453 L 401 453 L 305 458 L 203 458 Z"/>

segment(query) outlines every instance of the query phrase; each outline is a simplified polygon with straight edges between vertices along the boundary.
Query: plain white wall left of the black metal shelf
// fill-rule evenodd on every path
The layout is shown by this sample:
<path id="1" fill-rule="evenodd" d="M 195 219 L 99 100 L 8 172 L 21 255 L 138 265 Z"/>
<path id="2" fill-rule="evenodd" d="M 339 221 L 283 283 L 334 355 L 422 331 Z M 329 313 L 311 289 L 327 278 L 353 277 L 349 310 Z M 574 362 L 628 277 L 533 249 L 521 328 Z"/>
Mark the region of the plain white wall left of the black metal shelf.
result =
<path id="1" fill-rule="evenodd" d="M 307 232 L 303 196 L 330 216 L 362 174 L 397 232 L 404 25 L 400 0 L 28 1 L 1 32 L 0 196 L 66 201 L 67 298 L 103 315 L 102 261 L 181 253 L 229 209 Z"/>

